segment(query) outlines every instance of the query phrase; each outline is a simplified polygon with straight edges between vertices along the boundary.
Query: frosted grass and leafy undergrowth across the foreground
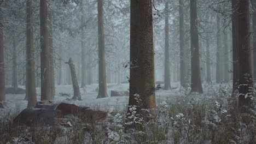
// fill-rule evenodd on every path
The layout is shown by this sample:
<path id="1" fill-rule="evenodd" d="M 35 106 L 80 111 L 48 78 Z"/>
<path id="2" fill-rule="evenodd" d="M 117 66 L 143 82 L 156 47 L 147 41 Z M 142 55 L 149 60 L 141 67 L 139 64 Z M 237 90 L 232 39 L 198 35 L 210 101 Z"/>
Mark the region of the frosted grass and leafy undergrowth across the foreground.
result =
<path id="1" fill-rule="evenodd" d="M 69 117 L 66 125 L 54 127 L 15 127 L 11 121 L 18 113 L 7 113 L 0 117 L 0 143 L 256 143 L 255 105 L 240 113 L 229 86 L 205 89 L 204 94 L 188 90 L 182 97 L 162 101 L 155 119 L 127 133 L 127 106 L 116 107 L 103 122 Z"/>

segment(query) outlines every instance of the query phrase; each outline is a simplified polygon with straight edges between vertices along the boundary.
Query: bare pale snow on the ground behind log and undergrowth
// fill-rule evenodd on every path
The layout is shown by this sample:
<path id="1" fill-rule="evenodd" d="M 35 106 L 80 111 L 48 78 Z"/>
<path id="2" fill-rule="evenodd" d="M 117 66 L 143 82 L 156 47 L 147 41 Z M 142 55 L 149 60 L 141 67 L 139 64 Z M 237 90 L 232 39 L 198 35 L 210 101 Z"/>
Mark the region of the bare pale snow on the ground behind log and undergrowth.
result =
<path id="1" fill-rule="evenodd" d="M 178 83 L 173 83 L 173 86 L 178 86 Z M 25 88 L 24 86 L 20 86 Z M 68 100 L 69 97 L 61 96 L 60 93 L 68 93 L 73 97 L 73 87 L 72 85 L 60 85 L 56 86 L 56 95 L 54 101 L 61 101 L 65 103 L 71 103 L 78 106 L 88 106 L 92 109 L 107 110 L 109 112 L 113 109 L 123 110 L 128 104 L 129 97 L 110 97 L 110 91 L 127 91 L 129 89 L 129 83 L 108 83 L 107 84 L 107 98 L 96 99 L 98 92 L 96 88 L 98 84 L 87 85 L 85 88 L 80 88 L 82 100 Z M 160 104 L 162 101 L 170 100 L 171 98 L 177 97 L 179 95 L 184 95 L 183 92 L 179 92 L 179 88 L 171 89 L 169 91 L 164 91 L 162 89 L 156 91 L 156 103 Z M 27 107 L 27 100 L 24 100 L 25 94 L 7 94 L 7 106 L 9 109 L 5 111 L 13 111 L 20 113 Z M 40 101 L 40 88 L 37 88 L 37 100 Z"/>

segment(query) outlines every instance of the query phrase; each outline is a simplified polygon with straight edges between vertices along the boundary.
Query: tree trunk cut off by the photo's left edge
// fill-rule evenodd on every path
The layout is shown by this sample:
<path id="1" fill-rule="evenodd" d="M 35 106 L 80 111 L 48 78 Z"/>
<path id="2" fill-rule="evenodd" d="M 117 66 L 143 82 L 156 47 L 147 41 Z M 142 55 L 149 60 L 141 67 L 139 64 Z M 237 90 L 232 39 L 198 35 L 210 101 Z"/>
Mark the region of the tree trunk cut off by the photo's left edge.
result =
<path id="1" fill-rule="evenodd" d="M 2 2 L 3 3 L 3 2 Z M 0 4 L 2 6 L 2 4 Z M 0 8 L 0 101 L 5 101 L 3 11 Z"/>

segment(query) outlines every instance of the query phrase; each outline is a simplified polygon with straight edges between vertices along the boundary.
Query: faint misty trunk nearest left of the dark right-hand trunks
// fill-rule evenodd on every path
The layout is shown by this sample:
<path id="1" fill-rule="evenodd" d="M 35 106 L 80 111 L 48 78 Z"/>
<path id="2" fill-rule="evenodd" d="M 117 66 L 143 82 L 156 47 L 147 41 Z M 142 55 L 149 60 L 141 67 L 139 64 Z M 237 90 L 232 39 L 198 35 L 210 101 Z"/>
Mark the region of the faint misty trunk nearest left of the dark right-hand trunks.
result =
<path id="1" fill-rule="evenodd" d="M 223 62 L 224 62 L 224 83 L 229 82 L 229 47 L 228 47 L 228 32 L 224 32 L 224 52 L 223 52 Z"/>

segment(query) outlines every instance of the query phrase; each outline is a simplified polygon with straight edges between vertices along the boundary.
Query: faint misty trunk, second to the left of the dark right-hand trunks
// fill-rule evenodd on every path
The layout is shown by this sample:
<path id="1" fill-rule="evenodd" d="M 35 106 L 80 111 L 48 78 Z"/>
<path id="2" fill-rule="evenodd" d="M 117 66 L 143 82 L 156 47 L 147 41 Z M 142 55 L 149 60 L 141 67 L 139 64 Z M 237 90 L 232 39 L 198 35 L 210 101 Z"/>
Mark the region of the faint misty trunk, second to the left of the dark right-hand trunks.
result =
<path id="1" fill-rule="evenodd" d="M 221 45 L 220 45 L 220 21 L 219 21 L 219 15 L 217 14 L 217 51 L 216 51 L 216 83 L 222 82 L 222 65 L 220 64 L 220 51 L 221 51 Z"/>

